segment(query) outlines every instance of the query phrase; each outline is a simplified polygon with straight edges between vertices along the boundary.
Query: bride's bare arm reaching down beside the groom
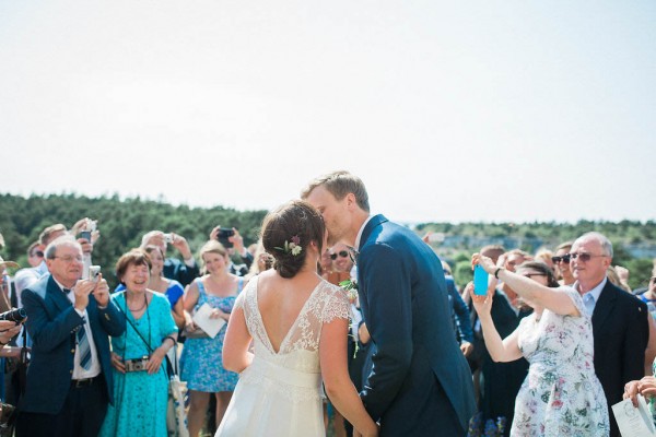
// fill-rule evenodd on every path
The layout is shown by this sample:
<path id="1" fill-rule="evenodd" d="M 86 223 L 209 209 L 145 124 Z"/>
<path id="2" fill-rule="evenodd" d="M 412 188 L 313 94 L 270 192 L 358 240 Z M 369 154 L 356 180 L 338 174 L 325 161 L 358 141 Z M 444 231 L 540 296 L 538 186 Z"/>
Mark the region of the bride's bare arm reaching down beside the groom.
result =
<path id="1" fill-rule="evenodd" d="M 321 328 L 319 359 L 326 393 L 332 405 L 363 436 L 377 436 L 378 426 L 372 421 L 349 377 L 347 335 L 349 321 L 336 318 Z"/>

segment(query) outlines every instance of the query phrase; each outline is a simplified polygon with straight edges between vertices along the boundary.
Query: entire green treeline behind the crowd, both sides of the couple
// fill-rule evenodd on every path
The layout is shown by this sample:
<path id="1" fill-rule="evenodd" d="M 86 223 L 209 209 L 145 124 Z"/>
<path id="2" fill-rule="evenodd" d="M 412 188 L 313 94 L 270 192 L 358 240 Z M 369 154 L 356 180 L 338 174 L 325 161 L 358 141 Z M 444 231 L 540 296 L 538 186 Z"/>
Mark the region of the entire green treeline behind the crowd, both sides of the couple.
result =
<path id="1" fill-rule="evenodd" d="M 93 260 L 103 265 L 108 280 L 114 264 L 127 249 L 137 247 L 141 236 L 152 229 L 175 232 L 187 238 L 192 251 L 197 251 L 208 239 L 210 231 L 221 225 L 235 226 L 249 245 L 257 241 L 259 227 L 267 211 L 236 211 L 222 206 L 189 208 L 132 198 L 121 200 L 112 197 L 87 198 L 77 194 L 32 196 L 24 198 L 0 194 L 0 233 L 7 247 L 5 259 L 27 265 L 25 250 L 39 233 L 55 223 L 71 227 L 78 220 L 90 217 L 98 221 L 101 239 L 96 243 Z M 507 249 L 515 247 L 535 252 L 539 247 L 554 249 L 558 244 L 577 236 L 598 231 L 614 245 L 614 264 L 630 269 L 630 285 L 637 287 L 649 277 L 652 269 L 651 249 L 656 250 L 656 222 L 622 221 L 562 223 L 423 223 L 415 226 L 419 235 L 426 232 L 443 234 L 444 239 L 433 244 L 437 253 L 458 264 L 456 280 L 462 284 L 469 280 L 467 259 L 484 244 L 503 244 Z M 639 253 L 635 247 L 646 247 Z M 169 249 L 175 250 L 175 249 Z M 633 250 L 633 251 L 632 251 Z M 646 255 L 645 255 L 646 253 Z"/>

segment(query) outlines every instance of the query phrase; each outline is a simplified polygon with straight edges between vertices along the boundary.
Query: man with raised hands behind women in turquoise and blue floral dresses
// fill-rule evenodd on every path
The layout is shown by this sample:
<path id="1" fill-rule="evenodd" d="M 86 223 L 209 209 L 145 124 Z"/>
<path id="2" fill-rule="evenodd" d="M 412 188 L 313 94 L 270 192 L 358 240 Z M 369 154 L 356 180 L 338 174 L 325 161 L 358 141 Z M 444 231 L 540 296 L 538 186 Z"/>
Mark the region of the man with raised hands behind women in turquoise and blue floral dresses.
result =
<path id="1" fill-rule="evenodd" d="M 166 258 L 166 249 L 169 244 L 180 252 L 183 261 L 176 258 Z M 162 231 L 151 231 L 141 238 L 140 247 L 144 249 L 150 245 L 157 246 L 164 253 L 164 268 L 162 269 L 164 277 L 175 280 L 183 286 L 187 286 L 198 277 L 198 265 L 185 237 L 174 233 L 164 234 Z"/>

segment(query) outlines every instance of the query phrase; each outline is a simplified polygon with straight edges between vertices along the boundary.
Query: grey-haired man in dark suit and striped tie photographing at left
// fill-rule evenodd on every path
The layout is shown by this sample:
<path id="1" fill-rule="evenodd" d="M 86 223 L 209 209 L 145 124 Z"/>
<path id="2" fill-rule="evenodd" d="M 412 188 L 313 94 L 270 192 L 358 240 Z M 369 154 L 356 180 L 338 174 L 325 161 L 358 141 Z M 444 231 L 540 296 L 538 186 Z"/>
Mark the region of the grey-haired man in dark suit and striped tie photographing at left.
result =
<path id="1" fill-rule="evenodd" d="M 16 435 L 96 436 L 113 402 L 108 335 L 122 334 L 126 319 L 102 275 L 80 280 L 72 237 L 55 239 L 45 257 L 50 274 L 23 292 L 33 343 Z"/>

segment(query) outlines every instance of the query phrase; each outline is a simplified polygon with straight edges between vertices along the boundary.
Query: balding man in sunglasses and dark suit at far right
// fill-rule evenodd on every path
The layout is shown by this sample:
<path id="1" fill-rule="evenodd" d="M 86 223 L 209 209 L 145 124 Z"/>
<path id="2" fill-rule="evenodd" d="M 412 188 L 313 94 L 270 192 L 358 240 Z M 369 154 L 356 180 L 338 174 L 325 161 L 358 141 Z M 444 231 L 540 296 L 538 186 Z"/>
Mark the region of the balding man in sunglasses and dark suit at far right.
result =
<path id="1" fill-rule="evenodd" d="M 570 268 L 574 287 L 593 315 L 595 373 L 604 387 L 613 437 L 620 432 L 610 406 L 622 400 L 626 382 L 644 376 L 649 326 L 645 303 L 606 277 L 611 262 L 612 245 L 599 233 L 585 234 L 572 246 Z"/>

